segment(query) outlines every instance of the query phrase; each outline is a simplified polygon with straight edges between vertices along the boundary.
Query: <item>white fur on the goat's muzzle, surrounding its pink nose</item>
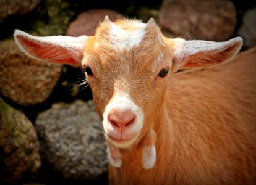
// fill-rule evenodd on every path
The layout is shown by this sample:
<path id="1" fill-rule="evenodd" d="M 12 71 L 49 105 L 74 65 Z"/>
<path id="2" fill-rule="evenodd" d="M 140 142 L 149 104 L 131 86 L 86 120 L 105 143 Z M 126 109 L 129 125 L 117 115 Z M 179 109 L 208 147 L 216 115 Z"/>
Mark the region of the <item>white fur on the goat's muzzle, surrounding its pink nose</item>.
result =
<path id="1" fill-rule="evenodd" d="M 128 130 L 122 133 L 122 136 L 120 131 L 114 128 L 113 125 L 108 121 L 108 114 L 113 109 L 117 109 L 120 111 L 129 110 L 130 112 L 135 114 L 134 123 L 130 126 Z M 119 96 L 119 95 L 114 96 L 111 99 L 111 102 L 109 102 L 109 104 L 106 106 L 105 111 L 103 113 L 103 128 L 105 130 L 105 133 L 107 133 L 108 135 L 116 139 L 132 138 L 127 142 L 121 142 L 121 143 L 117 143 L 109 139 L 109 142 L 111 142 L 116 147 L 121 147 L 121 148 L 129 147 L 139 136 L 140 130 L 142 130 L 142 127 L 143 127 L 143 121 L 144 121 L 144 114 L 142 109 L 140 109 L 140 107 L 138 107 L 132 101 L 132 99 L 129 97 L 128 94 L 124 94 L 122 96 Z"/>

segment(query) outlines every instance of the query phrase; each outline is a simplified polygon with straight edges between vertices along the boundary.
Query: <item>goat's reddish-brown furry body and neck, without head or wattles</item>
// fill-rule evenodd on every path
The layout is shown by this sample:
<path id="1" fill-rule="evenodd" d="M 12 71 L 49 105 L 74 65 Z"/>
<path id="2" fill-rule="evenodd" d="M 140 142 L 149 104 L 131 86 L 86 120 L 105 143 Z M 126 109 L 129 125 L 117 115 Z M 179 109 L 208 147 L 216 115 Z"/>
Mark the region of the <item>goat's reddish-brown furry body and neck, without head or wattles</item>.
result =
<path id="1" fill-rule="evenodd" d="M 170 76 L 157 133 L 156 165 L 142 146 L 109 165 L 113 184 L 255 184 L 256 48 L 228 64 Z"/>

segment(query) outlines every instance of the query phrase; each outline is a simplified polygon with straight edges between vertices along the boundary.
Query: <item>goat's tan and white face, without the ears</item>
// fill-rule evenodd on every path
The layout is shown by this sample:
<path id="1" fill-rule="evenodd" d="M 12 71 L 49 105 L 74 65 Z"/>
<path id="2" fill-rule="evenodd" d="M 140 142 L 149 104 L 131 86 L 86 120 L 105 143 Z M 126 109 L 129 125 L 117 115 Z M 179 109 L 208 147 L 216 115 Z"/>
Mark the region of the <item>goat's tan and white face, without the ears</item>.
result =
<path id="1" fill-rule="evenodd" d="M 153 128 L 172 64 L 154 23 L 124 23 L 103 22 L 82 61 L 106 139 L 121 148 Z"/>

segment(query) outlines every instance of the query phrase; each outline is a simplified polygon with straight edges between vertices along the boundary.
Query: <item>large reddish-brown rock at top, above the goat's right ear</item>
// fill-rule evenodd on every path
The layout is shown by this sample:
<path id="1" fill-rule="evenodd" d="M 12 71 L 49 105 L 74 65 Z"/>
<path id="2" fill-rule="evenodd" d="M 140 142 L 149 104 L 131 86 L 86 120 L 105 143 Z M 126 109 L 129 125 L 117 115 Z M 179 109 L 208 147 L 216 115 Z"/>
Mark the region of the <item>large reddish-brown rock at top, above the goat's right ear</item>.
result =
<path id="1" fill-rule="evenodd" d="M 236 9 L 223 0 L 164 0 L 159 23 L 166 36 L 225 41 L 236 27 Z"/>

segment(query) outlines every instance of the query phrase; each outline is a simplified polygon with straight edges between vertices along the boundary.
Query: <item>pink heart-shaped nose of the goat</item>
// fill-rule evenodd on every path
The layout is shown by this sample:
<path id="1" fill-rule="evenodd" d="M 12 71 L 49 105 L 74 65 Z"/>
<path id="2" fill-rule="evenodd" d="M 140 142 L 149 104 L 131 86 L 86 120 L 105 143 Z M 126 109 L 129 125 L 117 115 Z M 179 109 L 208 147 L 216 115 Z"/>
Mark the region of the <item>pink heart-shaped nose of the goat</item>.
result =
<path id="1" fill-rule="evenodd" d="M 108 120 L 115 127 L 125 128 L 132 125 L 135 120 L 135 114 L 130 110 L 119 111 L 113 109 L 108 113 Z"/>

